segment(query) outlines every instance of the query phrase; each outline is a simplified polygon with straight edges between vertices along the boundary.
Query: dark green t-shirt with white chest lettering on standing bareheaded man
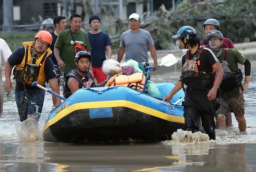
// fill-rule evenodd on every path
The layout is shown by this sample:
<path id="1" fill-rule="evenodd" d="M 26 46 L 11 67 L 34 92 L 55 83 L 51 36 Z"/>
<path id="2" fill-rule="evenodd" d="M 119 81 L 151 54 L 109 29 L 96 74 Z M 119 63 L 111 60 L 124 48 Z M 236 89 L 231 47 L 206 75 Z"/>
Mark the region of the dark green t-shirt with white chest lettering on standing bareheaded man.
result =
<path id="1" fill-rule="evenodd" d="M 70 34 L 70 29 L 61 31 L 56 39 L 54 47 L 60 50 L 60 59 L 65 63 L 64 72 L 70 72 L 75 66 L 75 43 L 79 43 L 86 48 L 86 51 L 91 51 L 90 41 L 84 31 L 79 33 L 72 32 L 74 41 Z"/>

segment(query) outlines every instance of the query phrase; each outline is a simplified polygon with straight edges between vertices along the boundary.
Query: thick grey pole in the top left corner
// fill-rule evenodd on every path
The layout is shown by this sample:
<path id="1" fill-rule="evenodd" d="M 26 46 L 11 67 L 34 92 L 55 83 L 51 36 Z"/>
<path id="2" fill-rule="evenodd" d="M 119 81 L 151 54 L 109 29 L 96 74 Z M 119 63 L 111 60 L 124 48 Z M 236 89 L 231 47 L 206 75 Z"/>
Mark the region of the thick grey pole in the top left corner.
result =
<path id="1" fill-rule="evenodd" d="M 4 29 L 3 31 L 10 32 L 12 30 L 13 18 L 12 18 L 12 0 L 4 0 Z"/>

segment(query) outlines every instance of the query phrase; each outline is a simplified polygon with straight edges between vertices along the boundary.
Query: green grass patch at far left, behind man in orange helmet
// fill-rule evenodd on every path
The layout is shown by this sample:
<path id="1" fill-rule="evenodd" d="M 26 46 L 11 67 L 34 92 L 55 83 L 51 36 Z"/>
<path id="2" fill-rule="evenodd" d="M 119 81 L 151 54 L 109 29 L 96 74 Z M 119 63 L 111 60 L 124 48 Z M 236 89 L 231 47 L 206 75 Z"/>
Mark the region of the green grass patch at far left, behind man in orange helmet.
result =
<path id="1" fill-rule="evenodd" d="M 0 38 L 6 41 L 12 52 L 18 47 L 22 47 L 23 42 L 34 41 L 35 35 L 36 32 L 0 32 Z"/>

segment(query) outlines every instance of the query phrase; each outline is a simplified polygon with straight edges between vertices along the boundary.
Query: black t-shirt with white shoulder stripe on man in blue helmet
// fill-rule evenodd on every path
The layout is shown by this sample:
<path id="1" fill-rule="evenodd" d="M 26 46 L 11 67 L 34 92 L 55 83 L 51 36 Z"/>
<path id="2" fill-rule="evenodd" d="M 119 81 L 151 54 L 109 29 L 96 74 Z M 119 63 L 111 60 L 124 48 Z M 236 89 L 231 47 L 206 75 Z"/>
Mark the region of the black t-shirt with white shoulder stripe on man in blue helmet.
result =
<path id="1" fill-rule="evenodd" d="M 196 52 L 194 54 L 191 54 L 189 52 L 188 59 L 192 60 L 194 58 L 194 56 L 196 55 L 196 53 L 198 52 L 198 50 L 200 49 L 200 47 L 201 46 L 198 46 L 198 49 L 196 50 Z M 216 62 L 218 62 L 218 58 L 216 57 L 214 52 L 207 47 L 204 47 L 204 49 L 202 50 L 202 53 L 199 56 L 199 60 L 200 60 L 200 65 L 198 65 L 198 70 L 204 71 L 206 73 L 212 72 L 213 71 L 212 66 Z M 184 65 L 185 61 L 186 61 L 186 54 L 183 55 L 183 57 L 182 57 L 182 66 Z"/>

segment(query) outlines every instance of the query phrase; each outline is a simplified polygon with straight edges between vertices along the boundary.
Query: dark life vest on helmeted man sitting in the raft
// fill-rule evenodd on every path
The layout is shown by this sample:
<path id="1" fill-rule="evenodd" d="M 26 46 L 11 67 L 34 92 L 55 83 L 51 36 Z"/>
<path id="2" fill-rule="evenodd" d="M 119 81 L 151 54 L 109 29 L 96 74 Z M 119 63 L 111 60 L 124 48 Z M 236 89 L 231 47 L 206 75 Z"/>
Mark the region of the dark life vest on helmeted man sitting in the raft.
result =
<path id="1" fill-rule="evenodd" d="M 84 86 L 84 84 L 88 81 L 89 77 L 92 78 L 92 80 L 94 79 L 94 78 L 92 77 L 92 74 L 91 74 L 90 72 L 88 72 L 88 71 L 84 74 L 84 77 L 82 77 L 82 76 L 80 76 L 80 74 L 78 74 L 77 69 L 71 70 L 71 71 L 66 75 L 66 80 L 65 80 L 65 85 L 64 85 L 65 88 L 66 88 L 66 92 L 65 92 L 64 98 L 68 98 L 69 96 L 72 95 L 71 90 L 70 90 L 70 88 L 68 87 L 68 80 L 69 80 L 70 78 L 75 78 L 75 79 L 78 81 L 78 83 L 79 83 L 79 88 L 86 88 L 86 87 Z M 96 87 L 96 84 L 93 82 L 90 87 Z"/>

